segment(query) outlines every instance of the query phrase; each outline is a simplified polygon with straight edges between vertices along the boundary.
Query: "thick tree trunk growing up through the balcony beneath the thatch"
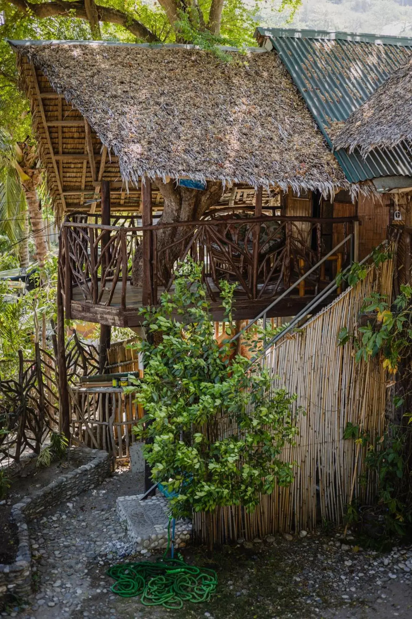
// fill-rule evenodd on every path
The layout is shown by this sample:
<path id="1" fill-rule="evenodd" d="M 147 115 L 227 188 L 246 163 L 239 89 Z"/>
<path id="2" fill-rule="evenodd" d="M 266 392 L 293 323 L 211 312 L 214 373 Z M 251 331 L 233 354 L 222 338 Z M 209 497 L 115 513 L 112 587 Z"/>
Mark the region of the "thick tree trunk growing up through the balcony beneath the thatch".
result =
<path id="1" fill-rule="evenodd" d="M 159 223 L 190 222 L 201 219 L 204 213 L 222 196 L 223 188 L 220 181 L 212 181 L 204 191 L 176 186 L 174 181 L 162 183 L 156 180 L 164 198 L 162 217 Z M 157 236 L 158 274 L 163 282 L 169 281 L 172 275 L 172 265 L 179 258 L 181 246 L 179 243 L 169 249 L 169 256 L 164 251 L 170 243 L 175 243 L 187 234 L 188 228 L 166 228 L 160 230 Z M 143 280 L 142 248 L 138 246 L 133 257 L 132 284 L 141 286 Z"/>

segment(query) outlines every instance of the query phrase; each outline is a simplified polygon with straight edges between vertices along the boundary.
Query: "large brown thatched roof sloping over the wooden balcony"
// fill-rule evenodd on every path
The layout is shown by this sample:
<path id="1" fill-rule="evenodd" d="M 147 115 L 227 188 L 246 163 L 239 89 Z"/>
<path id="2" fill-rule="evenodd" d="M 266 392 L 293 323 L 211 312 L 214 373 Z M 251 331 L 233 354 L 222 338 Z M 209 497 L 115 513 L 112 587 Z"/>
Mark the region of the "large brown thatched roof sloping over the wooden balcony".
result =
<path id="1" fill-rule="evenodd" d="M 12 44 L 28 95 L 30 60 L 118 157 L 127 181 L 187 177 L 323 193 L 348 186 L 274 53 L 230 52 L 227 63 L 182 46 Z"/>

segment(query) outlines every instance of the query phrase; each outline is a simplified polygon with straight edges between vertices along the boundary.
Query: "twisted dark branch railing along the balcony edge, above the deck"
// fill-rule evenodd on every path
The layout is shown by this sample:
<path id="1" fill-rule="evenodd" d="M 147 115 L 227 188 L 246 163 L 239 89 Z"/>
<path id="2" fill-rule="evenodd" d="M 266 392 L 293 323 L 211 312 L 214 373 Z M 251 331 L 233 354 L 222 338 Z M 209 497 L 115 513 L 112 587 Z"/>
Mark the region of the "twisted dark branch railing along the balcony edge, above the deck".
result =
<path id="1" fill-rule="evenodd" d="M 95 216 L 96 217 L 96 216 Z M 301 274 L 324 256 L 322 225 L 338 227 L 347 236 L 353 217 L 315 219 L 311 217 L 259 217 L 209 219 L 146 227 L 134 225 L 131 218 L 117 218 L 111 226 L 83 220 L 65 222 L 62 228 L 61 265 L 66 309 L 72 288 L 82 291 L 85 301 L 93 305 L 115 305 L 114 293 L 119 284 L 121 309 L 127 307 L 127 283 L 132 275 L 133 256 L 148 235 L 151 258 L 151 298 L 158 302 L 159 289 L 170 290 L 179 261 L 191 256 L 203 263 L 203 281 L 213 301 L 219 297 L 222 279 L 237 282 L 235 297 L 258 300 L 272 298 L 288 288 Z M 96 217 L 97 221 L 97 217 Z M 162 232 L 172 228 L 167 243 Z M 335 229 L 335 228 L 334 228 Z M 340 264 L 348 261 L 345 245 Z M 321 269 L 305 282 L 314 293 L 321 285 Z"/>

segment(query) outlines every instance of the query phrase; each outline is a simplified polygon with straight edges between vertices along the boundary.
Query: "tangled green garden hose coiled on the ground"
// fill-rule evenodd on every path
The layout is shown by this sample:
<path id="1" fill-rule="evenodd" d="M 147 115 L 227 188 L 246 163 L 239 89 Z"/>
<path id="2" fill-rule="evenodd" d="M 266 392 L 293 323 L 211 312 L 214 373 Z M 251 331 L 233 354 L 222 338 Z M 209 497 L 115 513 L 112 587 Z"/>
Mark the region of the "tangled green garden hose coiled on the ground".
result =
<path id="1" fill-rule="evenodd" d="M 187 565 L 182 558 L 167 559 L 170 545 L 170 519 L 167 527 L 167 548 L 157 561 L 119 563 L 107 569 L 116 582 L 113 593 L 122 597 L 140 595 L 145 606 L 164 606 L 179 609 L 183 602 L 208 602 L 216 591 L 217 574 L 214 569 Z"/>

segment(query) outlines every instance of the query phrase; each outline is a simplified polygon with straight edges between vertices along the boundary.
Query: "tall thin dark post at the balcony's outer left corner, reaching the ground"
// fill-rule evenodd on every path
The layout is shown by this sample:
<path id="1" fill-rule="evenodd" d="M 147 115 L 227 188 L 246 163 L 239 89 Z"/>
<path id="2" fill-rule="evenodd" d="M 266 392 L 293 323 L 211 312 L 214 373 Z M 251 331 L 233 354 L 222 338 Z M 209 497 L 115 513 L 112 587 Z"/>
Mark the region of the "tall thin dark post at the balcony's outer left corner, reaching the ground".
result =
<path id="1" fill-rule="evenodd" d="M 59 236 L 60 264 L 57 268 L 57 369 L 59 371 L 59 402 L 62 419 L 62 431 L 67 440 L 70 440 L 70 407 L 69 390 L 67 389 L 67 368 L 64 344 L 64 307 L 61 280 L 61 256 L 61 236 Z"/>

